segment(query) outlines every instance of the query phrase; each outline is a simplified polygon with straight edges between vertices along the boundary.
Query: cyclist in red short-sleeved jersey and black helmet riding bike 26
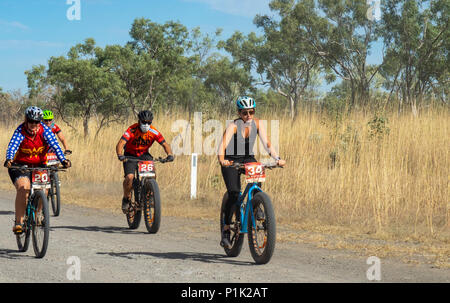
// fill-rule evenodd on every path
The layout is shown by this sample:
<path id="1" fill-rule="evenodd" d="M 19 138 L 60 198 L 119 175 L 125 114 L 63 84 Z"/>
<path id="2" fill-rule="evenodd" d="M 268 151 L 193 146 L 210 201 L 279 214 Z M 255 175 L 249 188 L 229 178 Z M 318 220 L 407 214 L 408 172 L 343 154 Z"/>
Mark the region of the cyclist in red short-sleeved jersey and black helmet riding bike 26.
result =
<path id="1" fill-rule="evenodd" d="M 153 142 L 158 142 L 167 154 L 166 162 L 174 160 L 172 149 L 167 144 L 163 135 L 153 127 L 153 114 L 148 110 L 143 110 L 138 114 L 139 122 L 131 125 L 120 138 L 116 145 L 117 157 L 123 162 L 124 181 L 122 211 L 126 213 L 128 209 L 131 190 L 133 188 L 134 170 L 137 163 L 124 161 L 126 156 L 140 158 L 142 160 L 152 160 L 149 149 Z"/>

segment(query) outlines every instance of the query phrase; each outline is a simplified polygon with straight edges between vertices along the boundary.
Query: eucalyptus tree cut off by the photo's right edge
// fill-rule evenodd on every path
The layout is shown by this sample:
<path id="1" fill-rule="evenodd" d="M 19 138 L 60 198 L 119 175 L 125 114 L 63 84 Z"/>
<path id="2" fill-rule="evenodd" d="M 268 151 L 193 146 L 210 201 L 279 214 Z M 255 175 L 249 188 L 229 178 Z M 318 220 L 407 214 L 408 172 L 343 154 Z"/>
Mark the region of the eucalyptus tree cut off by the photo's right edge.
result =
<path id="1" fill-rule="evenodd" d="M 446 102 L 449 76 L 449 0 L 386 0 L 381 34 L 386 56 L 382 73 L 387 88 L 417 115 L 423 98 L 435 93 Z"/>

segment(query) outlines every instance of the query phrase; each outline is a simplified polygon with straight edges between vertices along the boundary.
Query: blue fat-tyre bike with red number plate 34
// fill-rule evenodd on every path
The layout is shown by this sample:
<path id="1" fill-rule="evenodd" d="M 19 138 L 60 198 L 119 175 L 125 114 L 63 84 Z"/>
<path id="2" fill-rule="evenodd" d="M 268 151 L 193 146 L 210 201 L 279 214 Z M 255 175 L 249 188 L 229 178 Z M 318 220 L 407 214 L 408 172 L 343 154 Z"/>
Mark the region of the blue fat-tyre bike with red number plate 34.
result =
<path id="1" fill-rule="evenodd" d="M 268 263 L 275 250 L 275 212 L 270 197 L 263 192 L 259 183 L 265 181 L 266 168 L 273 169 L 280 166 L 251 162 L 246 164 L 233 163 L 230 167 L 245 174 L 247 186 L 244 193 L 239 193 L 238 201 L 231 209 L 231 247 L 224 247 L 225 253 L 229 257 L 237 257 L 244 243 L 244 234 L 247 234 L 253 260 L 257 264 Z M 225 205 L 227 200 L 228 193 L 225 193 L 220 211 L 220 231 L 223 230 L 225 225 Z"/>

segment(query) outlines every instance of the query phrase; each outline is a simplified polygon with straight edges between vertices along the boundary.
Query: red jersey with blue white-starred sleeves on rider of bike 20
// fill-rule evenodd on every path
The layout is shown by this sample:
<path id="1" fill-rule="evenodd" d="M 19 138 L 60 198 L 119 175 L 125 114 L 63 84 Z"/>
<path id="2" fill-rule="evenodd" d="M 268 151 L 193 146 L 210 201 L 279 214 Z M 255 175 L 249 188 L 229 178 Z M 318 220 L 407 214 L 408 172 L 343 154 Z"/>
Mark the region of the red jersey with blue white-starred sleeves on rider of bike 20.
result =
<path id="1" fill-rule="evenodd" d="M 25 130 L 25 124 L 22 123 L 14 131 L 6 150 L 6 159 L 13 160 L 14 163 L 40 165 L 46 162 L 46 154 L 49 148 L 52 148 L 58 160 L 66 160 L 61 147 L 58 144 L 55 134 L 44 125 L 39 124 L 36 135 L 31 136 Z"/>

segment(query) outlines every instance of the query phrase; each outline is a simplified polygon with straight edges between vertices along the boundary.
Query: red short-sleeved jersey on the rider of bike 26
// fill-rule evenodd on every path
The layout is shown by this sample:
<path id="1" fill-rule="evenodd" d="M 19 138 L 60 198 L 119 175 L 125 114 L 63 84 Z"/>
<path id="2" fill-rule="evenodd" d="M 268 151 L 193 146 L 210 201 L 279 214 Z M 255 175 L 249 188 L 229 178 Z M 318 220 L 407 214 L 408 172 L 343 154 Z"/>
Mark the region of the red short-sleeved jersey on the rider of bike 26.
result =
<path id="1" fill-rule="evenodd" d="M 146 133 L 141 131 L 139 123 L 131 125 L 122 135 L 122 139 L 127 143 L 125 144 L 125 153 L 140 157 L 146 152 L 153 142 L 163 144 L 166 140 L 163 135 L 150 125 L 150 130 Z"/>

